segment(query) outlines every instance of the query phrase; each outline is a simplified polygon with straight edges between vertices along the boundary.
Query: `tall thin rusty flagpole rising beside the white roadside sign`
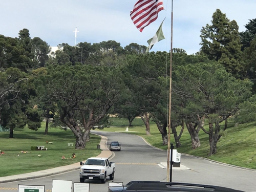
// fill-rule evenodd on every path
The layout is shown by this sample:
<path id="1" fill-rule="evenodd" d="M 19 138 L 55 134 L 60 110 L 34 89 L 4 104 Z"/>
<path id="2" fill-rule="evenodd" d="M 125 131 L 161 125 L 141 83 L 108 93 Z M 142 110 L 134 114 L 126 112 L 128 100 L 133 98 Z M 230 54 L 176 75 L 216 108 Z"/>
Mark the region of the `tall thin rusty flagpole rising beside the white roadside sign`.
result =
<path id="1" fill-rule="evenodd" d="M 173 0 L 172 0 L 172 22 L 170 28 L 170 85 L 169 85 L 169 115 L 168 115 L 168 151 L 167 151 L 167 182 L 172 182 L 173 162 L 170 162 L 170 112 L 172 104 L 172 63 L 173 63 Z M 170 167 L 172 166 L 172 167 Z"/>

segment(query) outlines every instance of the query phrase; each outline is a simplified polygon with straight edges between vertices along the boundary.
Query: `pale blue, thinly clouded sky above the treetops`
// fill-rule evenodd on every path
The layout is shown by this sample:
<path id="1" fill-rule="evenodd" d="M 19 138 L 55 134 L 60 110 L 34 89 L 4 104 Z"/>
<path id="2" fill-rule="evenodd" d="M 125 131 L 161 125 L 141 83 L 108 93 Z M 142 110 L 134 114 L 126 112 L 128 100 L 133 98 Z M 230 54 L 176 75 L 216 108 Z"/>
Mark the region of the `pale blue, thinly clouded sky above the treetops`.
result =
<path id="1" fill-rule="evenodd" d="M 130 11 L 138 0 L 8 0 L 0 6 L 0 34 L 18 37 L 19 30 L 30 31 L 31 38 L 40 37 L 50 46 L 62 42 L 76 43 L 115 40 L 122 47 L 134 42 L 147 45 L 162 20 L 164 40 L 151 51 L 170 50 L 170 18 L 172 0 L 163 0 L 165 10 L 158 19 L 140 32 L 132 23 Z M 173 0 L 173 48 L 182 48 L 188 54 L 200 49 L 200 30 L 211 23 L 212 14 L 220 9 L 229 20 L 236 20 L 239 31 L 256 18 L 256 0 Z"/>

